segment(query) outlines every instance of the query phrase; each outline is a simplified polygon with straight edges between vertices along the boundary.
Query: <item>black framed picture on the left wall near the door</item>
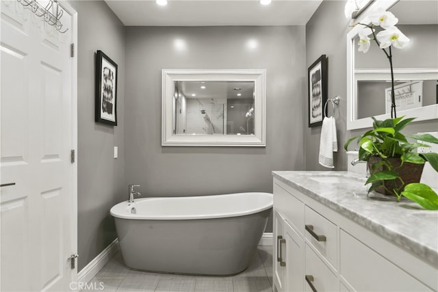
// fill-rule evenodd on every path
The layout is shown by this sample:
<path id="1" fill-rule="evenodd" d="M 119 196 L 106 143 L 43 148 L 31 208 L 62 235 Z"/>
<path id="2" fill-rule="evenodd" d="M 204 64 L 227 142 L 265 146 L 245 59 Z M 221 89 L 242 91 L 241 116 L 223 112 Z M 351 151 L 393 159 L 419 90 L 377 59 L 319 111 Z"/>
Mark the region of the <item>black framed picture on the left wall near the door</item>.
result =
<path id="1" fill-rule="evenodd" d="M 96 122 L 117 126 L 117 64 L 96 53 Z"/>

